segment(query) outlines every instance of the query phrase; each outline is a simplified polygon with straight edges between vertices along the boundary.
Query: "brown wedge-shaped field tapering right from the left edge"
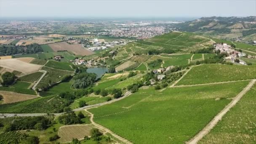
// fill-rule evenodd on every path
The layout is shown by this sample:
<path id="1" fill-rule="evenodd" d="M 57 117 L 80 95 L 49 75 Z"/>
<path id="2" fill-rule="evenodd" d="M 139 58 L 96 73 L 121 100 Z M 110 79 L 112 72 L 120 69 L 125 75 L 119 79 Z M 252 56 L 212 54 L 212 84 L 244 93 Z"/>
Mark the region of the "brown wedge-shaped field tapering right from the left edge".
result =
<path id="1" fill-rule="evenodd" d="M 10 92 L 10 91 L 0 91 L 0 94 L 3 96 L 2 104 L 8 104 L 8 103 L 14 103 L 14 102 L 18 102 L 18 101 L 26 101 L 29 99 L 38 98 L 37 95 L 14 93 L 14 92 Z"/>

